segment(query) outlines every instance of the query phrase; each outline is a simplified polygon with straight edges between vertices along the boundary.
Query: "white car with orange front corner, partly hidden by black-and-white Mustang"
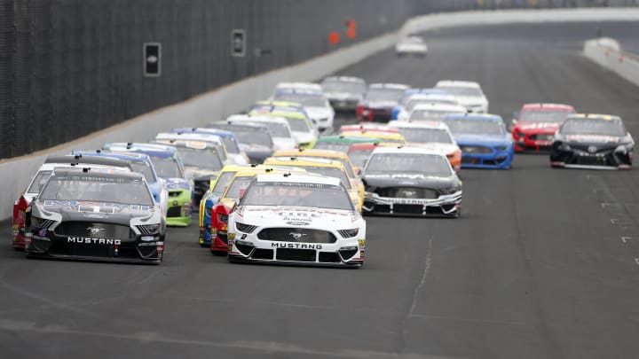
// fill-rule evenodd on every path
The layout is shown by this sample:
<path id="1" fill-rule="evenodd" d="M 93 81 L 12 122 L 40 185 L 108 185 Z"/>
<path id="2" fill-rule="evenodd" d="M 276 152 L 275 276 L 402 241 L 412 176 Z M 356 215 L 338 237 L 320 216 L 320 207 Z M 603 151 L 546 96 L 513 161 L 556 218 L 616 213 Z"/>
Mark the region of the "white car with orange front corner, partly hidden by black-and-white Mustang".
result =
<path id="1" fill-rule="evenodd" d="M 390 126 L 398 128 L 406 138 L 407 146 L 420 146 L 442 152 L 455 172 L 461 169 L 461 149 L 454 140 L 448 126 L 441 121 L 392 121 Z"/>

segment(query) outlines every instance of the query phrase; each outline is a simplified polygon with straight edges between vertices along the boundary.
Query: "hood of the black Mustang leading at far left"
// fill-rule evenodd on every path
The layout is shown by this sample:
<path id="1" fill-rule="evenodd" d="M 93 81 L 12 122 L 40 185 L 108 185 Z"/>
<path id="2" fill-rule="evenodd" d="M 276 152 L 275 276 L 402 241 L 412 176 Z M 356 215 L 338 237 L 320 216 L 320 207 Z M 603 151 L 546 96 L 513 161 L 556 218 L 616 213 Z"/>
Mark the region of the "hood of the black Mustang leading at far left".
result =
<path id="1" fill-rule="evenodd" d="M 124 205 L 107 202 L 77 200 L 37 200 L 32 204 L 32 215 L 56 222 L 106 222 L 153 224 L 162 220 L 155 206 Z M 135 221 L 132 221 L 135 220 Z M 90 236 L 87 233 L 87 236 Z"/>

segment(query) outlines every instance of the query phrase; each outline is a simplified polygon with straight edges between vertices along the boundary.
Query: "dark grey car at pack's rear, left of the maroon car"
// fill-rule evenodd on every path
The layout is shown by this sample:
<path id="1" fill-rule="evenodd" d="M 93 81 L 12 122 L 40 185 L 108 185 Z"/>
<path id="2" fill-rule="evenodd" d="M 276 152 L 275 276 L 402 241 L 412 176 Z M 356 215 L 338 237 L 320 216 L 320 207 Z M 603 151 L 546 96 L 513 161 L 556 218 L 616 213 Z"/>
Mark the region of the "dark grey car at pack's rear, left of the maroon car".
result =
<path id="1" fill-rule="evenodd" d="M 321 82 L 321 87 L 335 111 L 355 111 L 364 98 L 367 83 L 359 77 L 329 76 Z"/>

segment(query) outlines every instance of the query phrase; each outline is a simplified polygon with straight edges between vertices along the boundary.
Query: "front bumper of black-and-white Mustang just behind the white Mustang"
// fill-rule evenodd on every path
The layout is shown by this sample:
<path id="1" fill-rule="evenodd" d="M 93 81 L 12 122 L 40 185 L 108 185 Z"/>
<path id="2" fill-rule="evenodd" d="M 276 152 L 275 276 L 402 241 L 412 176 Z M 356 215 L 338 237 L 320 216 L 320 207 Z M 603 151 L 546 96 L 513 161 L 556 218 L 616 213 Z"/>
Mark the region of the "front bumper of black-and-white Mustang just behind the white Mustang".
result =
<path id="1" fill-rule="evenodd" d="M 461 193 L 457 191 L 437 199 L 402 199 L 366 192 L 363 209 L 365 215 L 457 216 L 461 210 Z"/>

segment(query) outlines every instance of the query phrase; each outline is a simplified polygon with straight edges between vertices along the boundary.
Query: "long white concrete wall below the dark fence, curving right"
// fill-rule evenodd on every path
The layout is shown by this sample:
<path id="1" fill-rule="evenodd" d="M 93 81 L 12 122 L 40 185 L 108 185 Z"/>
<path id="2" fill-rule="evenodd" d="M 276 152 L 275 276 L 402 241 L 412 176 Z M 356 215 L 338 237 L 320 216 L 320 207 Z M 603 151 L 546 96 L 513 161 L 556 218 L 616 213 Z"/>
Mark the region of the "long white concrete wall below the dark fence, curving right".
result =
<path id="1" fill-rule="evenodd" d="M 202 94 L 183 103 L 162 107 L 74 142 L 60 144 L 46 151 L 0 161 L 0 219 L 12 216 L 12 203 L 24 191 L 28 180 L 44 158 L 51 153 L 73 149 L 97 149 L 106 142 L 147 141 L 156 132 L 172 127 L 201 126 L 209 121 L 246 109 L 257 100 L 267 98 L 277 82 L 314 81 L 336 70 L 359 62 L 396 43 L 398 36 L 437 27 L 460 27 L 505 23 L 540 23 L 549 21 L 639 20 L 639 9 L 554 9 L 511 10 L 498 12 L 457 12 L 414 18 L 395 33 L 379 36 L 304 63 L 250 77 L 223 88 Z"/>

